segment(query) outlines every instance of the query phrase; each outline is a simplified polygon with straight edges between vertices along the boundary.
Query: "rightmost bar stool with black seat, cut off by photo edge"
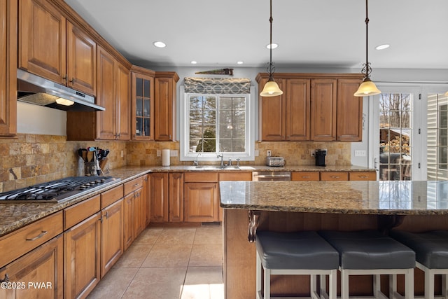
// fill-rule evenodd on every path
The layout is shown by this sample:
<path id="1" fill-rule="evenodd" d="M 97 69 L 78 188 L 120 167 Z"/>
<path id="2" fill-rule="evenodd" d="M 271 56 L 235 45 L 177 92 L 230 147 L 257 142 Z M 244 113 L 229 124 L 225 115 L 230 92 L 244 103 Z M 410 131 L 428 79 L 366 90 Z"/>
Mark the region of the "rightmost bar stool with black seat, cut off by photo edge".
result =
<path id="1" fill-rule="evenodd" d="M 442 297 L 448 298 L 448 231 L 391 230 L 390 235 L 415 251 L 416 267 L 425 272 L 425 299 L 434 298 L 435 274 L 442 274 Z"/>

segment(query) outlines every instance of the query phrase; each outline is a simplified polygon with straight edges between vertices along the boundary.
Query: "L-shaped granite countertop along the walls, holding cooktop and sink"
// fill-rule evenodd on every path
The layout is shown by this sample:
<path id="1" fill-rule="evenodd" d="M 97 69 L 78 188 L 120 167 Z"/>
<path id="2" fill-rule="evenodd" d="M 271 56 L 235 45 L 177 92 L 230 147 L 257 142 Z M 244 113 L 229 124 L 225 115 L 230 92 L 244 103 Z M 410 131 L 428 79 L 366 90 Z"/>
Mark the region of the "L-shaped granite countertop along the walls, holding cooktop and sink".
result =
<path id="1" fill-rule="evenodd" d="M 73 200 L 67 200 L 66 202 L 59 203 L 1 203 L 0 202 L 0 236 L 6 235 L 8 232 L 17 230 L 24 225 L 37 221 L 40 218 L 53 214 L 57 211 L 76 204 L 89 197 L 102 193 L 115 186 L 137 178 L 151 172 L 198 172 L 198 171 L 214 171 L 214 172 L 239 172 L 239 171 L 290 171 L 290 172 L 366 172 L 374 169 L 367 169 L 365 167 L 358 166 L 290 166 L 290 167 L 267 167 L 265 165 L 254 166 L 241 166 L 239 169 L 235 167 L 227 167 L 220 169 L 217 165 L 200 165 L 200 167 L 194 166 L 146 166 L 146 167 L 122 167 L 118 169 L 111 169 L 111 171 L 105 176 L 113 176 L 120 181 L 111 183 L 110 185 L 99 188 L 91 193 L 74 198 Z"/>

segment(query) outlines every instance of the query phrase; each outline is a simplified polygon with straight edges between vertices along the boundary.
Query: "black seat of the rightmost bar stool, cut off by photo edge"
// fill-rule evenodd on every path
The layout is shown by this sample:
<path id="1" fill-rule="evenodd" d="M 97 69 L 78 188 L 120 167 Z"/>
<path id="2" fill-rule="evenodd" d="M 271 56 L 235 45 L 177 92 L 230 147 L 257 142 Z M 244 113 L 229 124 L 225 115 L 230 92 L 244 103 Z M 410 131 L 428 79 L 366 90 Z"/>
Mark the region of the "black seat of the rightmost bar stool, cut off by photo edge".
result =
<path id="1" fill-rule="evenodd" d="M 404 232 L 391 230 L 391 237 L 415 251 L 416 260 L 429 269 L 448 269 L 448 231 Z"/>

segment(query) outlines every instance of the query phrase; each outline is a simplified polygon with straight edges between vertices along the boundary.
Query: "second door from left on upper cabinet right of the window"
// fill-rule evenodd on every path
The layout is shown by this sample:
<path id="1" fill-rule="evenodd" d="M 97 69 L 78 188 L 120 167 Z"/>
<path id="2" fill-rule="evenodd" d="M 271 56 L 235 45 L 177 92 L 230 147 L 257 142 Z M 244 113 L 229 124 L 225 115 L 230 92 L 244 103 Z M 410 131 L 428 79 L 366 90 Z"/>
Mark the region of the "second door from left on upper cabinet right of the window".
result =
<path id="1" fill-rule="evenodd" d="M 307 79 L 286 80 L 287 140 L 309 140 L 309 85 Z"/>

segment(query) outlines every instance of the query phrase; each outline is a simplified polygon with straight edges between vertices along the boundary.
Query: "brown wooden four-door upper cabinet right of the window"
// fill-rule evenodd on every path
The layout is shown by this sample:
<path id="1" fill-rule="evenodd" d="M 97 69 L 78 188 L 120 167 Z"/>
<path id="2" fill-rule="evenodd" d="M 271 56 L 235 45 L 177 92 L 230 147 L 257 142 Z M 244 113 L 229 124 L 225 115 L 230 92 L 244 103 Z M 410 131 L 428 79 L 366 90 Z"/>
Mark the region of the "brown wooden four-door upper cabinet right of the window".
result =
<path id="1" fill-rule="evenodd" d="M 362 74 L 275 74 L 283 90 L 259 97 L 262 141 L 361 141 L 361 98 L 353 97 Z M 262 90 L 268 78 L 255 78 Z"/>

